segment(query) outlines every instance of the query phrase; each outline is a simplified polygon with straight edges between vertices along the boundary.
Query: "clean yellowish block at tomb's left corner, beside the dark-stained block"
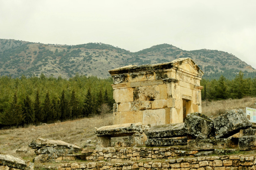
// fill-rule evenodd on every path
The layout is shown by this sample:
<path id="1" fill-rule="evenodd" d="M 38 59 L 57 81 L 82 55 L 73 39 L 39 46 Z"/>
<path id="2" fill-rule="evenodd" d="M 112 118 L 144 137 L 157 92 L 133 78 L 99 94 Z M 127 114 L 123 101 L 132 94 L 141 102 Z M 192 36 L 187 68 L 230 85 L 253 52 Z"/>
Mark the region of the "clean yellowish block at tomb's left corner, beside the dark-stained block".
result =
<path id="1" fill-rule="evenodd" d="M 133 102 L 133 88 L 114 90 L 113 99 L 115 100 L 116 103 Z"/>

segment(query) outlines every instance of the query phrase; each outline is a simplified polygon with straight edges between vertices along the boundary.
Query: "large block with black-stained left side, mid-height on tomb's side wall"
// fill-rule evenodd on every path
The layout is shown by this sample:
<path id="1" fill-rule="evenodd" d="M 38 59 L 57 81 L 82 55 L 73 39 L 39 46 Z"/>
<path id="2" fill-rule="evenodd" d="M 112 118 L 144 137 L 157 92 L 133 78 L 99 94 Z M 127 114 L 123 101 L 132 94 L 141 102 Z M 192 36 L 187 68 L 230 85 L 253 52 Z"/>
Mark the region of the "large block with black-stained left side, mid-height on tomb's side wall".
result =
<path id="1" fill-rule="evenodd" d="M 151 101 L 158 99 L 160 99 L 160 88 L 157 85 L 135 87 L 133 90 L 133 101 Z"/>

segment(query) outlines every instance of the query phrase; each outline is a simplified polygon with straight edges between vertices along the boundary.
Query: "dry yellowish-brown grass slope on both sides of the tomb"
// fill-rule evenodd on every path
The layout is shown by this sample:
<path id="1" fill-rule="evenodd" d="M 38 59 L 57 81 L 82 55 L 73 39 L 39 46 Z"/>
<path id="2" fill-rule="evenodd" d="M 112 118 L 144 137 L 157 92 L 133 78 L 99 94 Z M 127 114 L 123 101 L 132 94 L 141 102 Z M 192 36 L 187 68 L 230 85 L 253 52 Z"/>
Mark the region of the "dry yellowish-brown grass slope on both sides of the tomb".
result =
<path id="1" fill-rule="evenodd" d="M 202 102 L 202 112 L 212 118 L 232 109 L 256 108 L 256 98 Z M 24 156 L 16 150 L 28 149 L 28 144 L 36 138 L 62 140 L 84 147 L 87 140 L 95 140 L 94 127 L 112 124 L 112 114 L 102 117 L 53 123 L 45 126 L 28 126 L 17 129 L 0 130 L 0 153 L 7 153 L 32 160 L 35 155 Z"/>

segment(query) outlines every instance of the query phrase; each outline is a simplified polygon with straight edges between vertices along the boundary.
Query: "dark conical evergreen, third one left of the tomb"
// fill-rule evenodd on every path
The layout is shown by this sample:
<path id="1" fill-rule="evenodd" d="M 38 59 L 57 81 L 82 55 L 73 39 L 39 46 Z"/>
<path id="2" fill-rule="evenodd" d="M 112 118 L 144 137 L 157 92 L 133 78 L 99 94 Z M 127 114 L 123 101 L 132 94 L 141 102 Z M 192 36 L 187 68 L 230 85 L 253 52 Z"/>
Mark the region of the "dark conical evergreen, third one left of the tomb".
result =
<path id="1" fill-rule="evenodd" d="M 91 89 L 89 88 L 84 100 L 84 108 L 83 108 L 83 117 L 89 116 L 89 114 L 92 114 L 94 116 L 95 114 L 95 104 L 94 100 L 92 98 Z"/>

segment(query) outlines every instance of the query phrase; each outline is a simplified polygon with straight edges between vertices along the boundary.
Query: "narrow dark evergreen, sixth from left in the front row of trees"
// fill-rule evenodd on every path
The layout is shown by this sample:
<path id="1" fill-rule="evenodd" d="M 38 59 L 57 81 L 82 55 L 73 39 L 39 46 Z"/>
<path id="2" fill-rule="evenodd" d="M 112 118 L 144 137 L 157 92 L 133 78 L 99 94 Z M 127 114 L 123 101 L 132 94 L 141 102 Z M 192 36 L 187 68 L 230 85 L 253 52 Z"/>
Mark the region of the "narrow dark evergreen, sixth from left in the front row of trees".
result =
<path id="1" fill-rule="evenodd" d="M 59 108 L 60 108 L 60 114 L 61 114 L 60 115 L 61 121 L 70 119 L 72 117 L 69 103 L 65 99 L 64 90 L 62 91 L 62 94 L 60 97 Z"/>

